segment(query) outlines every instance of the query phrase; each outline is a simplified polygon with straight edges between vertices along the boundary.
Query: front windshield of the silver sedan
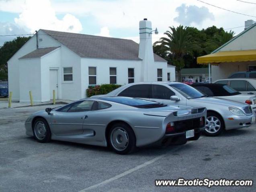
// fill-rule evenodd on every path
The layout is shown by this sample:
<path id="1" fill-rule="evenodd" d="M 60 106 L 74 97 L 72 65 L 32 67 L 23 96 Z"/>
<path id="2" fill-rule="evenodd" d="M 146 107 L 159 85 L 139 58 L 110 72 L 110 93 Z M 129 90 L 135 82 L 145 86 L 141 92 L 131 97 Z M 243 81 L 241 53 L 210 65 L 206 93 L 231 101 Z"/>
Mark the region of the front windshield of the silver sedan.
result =
<path id="1" fill-rule="evenodd" d="M 174 88 L 176 91 L 178 91 L 180 94 L 182 94 L 187 99 L 195 99 L 195 98 L 201 98 L 201 97 L 207 97 L 207 95 L 201 93 L 200 91 L 196 90 L 195 88 L 179 83 L 179 84 L 170 84 L 172 88 Z"/>

